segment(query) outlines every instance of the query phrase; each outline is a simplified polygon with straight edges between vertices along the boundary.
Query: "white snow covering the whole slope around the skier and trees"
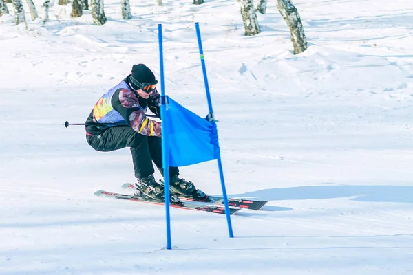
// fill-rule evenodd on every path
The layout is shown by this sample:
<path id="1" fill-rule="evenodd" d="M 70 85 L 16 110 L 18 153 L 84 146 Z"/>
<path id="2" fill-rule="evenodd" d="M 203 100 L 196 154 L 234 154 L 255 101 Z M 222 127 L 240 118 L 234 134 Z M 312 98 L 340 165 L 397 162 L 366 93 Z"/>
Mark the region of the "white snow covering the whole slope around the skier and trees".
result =
<path id="1" fill-rule="evenodd" d="M 132 1 L 133 19 L 52 3 L 50 22 L 0 17 L 0 274 L 413 274 L 411 0 L 297 0 L 308 50 L 293 55 L 274 1 L 243 36 L 236 1 Z M 35 0 L 39 15 L 41 1 Z M 94 151 L 93 104 L 135 63 L 207 115 L 200 23 L 226 190 L 268 199 L 232 216 L 95 197 L 133 182 L 129 150 Z M 220 195 L 215 162 L 181 175 Z M 159 173 L 156 174 L 159 179 Z"/>

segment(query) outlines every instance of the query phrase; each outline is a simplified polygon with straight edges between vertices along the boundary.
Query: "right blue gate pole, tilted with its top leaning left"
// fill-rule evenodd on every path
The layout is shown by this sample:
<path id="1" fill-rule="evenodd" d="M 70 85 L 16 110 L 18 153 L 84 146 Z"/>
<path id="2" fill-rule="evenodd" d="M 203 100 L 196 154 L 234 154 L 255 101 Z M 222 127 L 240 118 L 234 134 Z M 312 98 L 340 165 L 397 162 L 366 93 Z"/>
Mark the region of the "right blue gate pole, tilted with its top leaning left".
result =
<path id="1" fill-rule="evenodd" d="M 207 78 L 207 68 L 205 67 L 205 60 L 204 60 L 204 50 L 202 50 L 202 41 L 201 41 L 201 32 L 200 32 L 200 25 L 199 23 L 195 23 L 196 28 L 196 36 L 198 38 L 198 47 L 200 48 L 200 57 L 201 57 L 201 64 L 202 64 L 202 73 L 204 74 L 204 83 L 205 83 L 205 90 L 207 91 L 207 100 L 208 100 L 208 107 L 209 113 L 211 115 L 211 122 L 214 124 L 213 126 L 216 127 L 215 118 L 213 116 L 213 109 L 212 109 L 212 101 L 211 101 L 211 94 L 209 93 L 209 85 L 208 85 L 208 78 Z M 218 148 L 219 148 L 218 143 Z M 222 170 L 222 162 L 221 162 L 221 152 L 218 151 L 218 169 L 220 170 L 220 178 L 221 178 L 221 187 L 222 187 L 222 197 L 224 199 L 224 206 L 225 206 L 225 214 L 226 214 L 226 222 L 228 223 L 228 231 L 229 237 L 233 238 L 233 230 L 231 225 L 231 216 L 229 212 L 228 206 L 228 197 L 226 196 L 226 188 L 225 188 L 225 181 L 224 181 L 224 171 Z"/>

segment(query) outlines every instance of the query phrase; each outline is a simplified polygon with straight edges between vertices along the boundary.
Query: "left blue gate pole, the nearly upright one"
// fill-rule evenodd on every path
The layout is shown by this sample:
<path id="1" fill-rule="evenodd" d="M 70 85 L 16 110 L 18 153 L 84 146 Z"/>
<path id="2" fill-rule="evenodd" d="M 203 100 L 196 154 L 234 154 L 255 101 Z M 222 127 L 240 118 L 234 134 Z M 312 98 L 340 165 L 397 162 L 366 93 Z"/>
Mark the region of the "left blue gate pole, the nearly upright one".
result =
<path id="1" fill-rule="evenodd" d="M 165 212 L 167 219 L 167 249 L 172 249 L 171 244 L 171 216 L 169 214 L 169 150 L 167 140 L 167 97 L 165 96 L 165 80 L 163 69 L 163 50 L 162 50 L 162 24 L 158 24 L 159 40 L 159 60 L 160 60 L 160 115 L 162 116 L 162 168 L 165 181 Z"/>

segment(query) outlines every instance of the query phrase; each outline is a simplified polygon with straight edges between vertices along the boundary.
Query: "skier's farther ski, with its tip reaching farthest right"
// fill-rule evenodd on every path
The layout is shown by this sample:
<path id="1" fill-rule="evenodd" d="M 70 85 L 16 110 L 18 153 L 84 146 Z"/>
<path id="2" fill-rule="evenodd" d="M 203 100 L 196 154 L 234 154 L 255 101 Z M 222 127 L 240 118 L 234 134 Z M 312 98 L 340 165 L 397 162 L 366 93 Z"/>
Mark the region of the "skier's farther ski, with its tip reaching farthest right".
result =
<path id="1" fill-rule="evenodd" d="M 122 184 L 123 189 L 135 189 L 134 184 Z M 180 197 L 184 201 L 202 201 L 202 202 L 211 202 L 215 204 L 224 204 L 224 199 L 222 197 L 208 196 L 206 199 L 197 200 L 193 197 Z M 251 199 L 228 199 L 229 206 L 239 207 L 244 209 L 251 210 L 260 210 L 268 201 L 254 201 Z"/>

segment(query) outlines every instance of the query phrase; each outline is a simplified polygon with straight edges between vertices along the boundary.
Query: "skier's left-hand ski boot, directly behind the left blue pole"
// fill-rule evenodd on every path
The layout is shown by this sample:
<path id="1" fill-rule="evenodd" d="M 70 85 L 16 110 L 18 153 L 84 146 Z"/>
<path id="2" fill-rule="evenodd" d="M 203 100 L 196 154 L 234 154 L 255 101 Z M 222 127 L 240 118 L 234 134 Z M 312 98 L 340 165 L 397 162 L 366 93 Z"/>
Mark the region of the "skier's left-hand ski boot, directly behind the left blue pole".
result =
<path id="1" fill-rule="evenodd" d="M 153 175 L 138 179 L 138 183 L 135 184 L 135 188 L 136 192 L 134 197 L 136 198 L 147 199 L 149 201 L 165 201 L 164 187 L 156 182 Z M 170 201 L 175 204 L 180 203 L 180 199 L 172 195 L 170 197 Z"/>

